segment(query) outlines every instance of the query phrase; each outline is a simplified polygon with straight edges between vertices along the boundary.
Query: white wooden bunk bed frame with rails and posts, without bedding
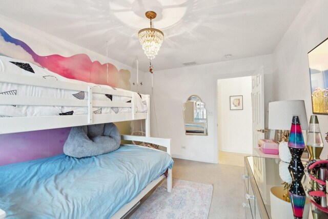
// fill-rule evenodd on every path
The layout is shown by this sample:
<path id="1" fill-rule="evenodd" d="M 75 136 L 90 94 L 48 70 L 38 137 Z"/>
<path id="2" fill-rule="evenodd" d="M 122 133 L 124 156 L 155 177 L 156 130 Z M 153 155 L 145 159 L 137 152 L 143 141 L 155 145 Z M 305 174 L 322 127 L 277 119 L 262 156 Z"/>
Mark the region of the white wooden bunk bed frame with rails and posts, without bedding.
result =
<path id="1" fill-rule="evenodd" d="M 32 117 L 0 117 L 0 134 L 36 131 L 44 129 L 55 129 L 73 126 L 84 126 L 101 123 L 113 123 L 133 120 L 146 120 L 146 136 L 121 135 L 121 140 L 147 142 L 167 148 L 167 153 L 171 156 L 171 140 L 166 138 L 150 137 L 150 99 L 147 95 L 147 112 L 135 112 L 135 98 L 138 95 L 135 92 L 127 90 L 111 90 L 106 88 L 91 87 L 83 84 L 70 82 L 48 81 L 42 78 L 0 73 L 0 82 L 18 85 L 30 85 L 45 88 L 55 88 L 73 91 L 84 91 L 88 94 L 88 100 L 65 99 L 65 98 L 46 98 L 33 96 L 7 96 L 0 95 L 0 105 L 24 105 L 24 106 L 75 106 L 88 107 L 88 114 L 84 115 L 51 115 L 51 116 L 32 116 Z M 117 96 L 131 97 L 131 103 L 93 101 L 92 94 L 111 94 Z M 129 107 L 131 113 L 121 114 L 93 114 L 93 107 Z M 112 218 L 121 218 L 132 210 L 142 197 L 151 191 L 161 180 L 165 178 L 161 175 L 157 180 L 152 181 L 144 190 L 142 190 L 131 202 L 127 203 L 118 210 Z M 172 170 L 168 170 L 167 190 L 172 190 Z M 6 213 L 0 209 L 0 219 L 4 218 Z"/>

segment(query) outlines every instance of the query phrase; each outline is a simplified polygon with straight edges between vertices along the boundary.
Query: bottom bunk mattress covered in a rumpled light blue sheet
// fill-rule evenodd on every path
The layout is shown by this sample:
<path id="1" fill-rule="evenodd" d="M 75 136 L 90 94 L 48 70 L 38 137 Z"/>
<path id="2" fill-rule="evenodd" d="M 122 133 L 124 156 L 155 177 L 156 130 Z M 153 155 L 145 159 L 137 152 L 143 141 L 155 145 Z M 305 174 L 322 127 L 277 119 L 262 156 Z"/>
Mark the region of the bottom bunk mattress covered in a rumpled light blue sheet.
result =
<path id="1" fill-rule="evenodd" d="M 0 208 L 8 218 L 109 218 L 172 165 L 166 152 L 132 145 L 6 165 Z"/>

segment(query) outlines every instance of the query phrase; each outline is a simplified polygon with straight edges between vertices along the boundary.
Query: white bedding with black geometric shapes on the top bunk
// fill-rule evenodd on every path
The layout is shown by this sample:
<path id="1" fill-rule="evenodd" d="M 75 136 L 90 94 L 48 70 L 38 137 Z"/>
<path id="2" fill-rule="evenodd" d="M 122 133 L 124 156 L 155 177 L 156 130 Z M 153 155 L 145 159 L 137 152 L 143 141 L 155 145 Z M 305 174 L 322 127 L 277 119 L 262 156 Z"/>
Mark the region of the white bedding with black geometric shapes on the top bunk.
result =
<path id="1" fill-rule="evenodd" d="M 19 74 L 31 77 L 44 78 L 46 80 L 70 82 L 75 84 L 83 84 L 86 86 L 101 87 L 114 90 L 122 90 L 119 88 L 112 88 L 107 85 L 96 85 L 68 79 L 51 72 L 43 67 L 35 64 L 20 61 L 14 58 L 0 56 L 0 72 L 6 74 Z M 1 81 L 1 78 L 0 78 Z M 52 97 L 52 98 L 66 98 L 66 99 L 88 99 L 88 94 L 83 91 L 71 91 L 64 89 L 53 89 L 44 87 L 35 87 L 28 85 L 17 85 L 0 82 L 0 94 L 3 95 L 19 95 L 19 96 L 36 96 L 36 97 Z M 142 94 L 134 95 L 136 108 L 135 112 L 147 112 L 146 96 Z M 95 101 L 113 101 L 113 102 L 130 102 L 131 97 L 105 95 L 93 93 L 93 100 Z M 9 106 L 0 105 L 0 117 L 18 117 L 18 116 L 46 116 L 46 115 L 78 115 L 87 114 L 87 107 L 67 107 L 67 106 Z M 115 114 L 115 113 L 131 113 L 131 108 L 117 108 L 117 107 L 99 107 L 93 108 L 94 114 Z"/>

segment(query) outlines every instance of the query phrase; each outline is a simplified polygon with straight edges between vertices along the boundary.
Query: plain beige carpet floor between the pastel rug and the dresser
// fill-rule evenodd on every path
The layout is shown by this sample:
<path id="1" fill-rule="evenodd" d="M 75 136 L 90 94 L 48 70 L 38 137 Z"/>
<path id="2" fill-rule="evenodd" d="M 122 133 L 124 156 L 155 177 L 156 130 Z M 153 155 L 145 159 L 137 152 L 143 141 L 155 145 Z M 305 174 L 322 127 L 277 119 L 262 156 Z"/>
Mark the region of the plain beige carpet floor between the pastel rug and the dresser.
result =
<path id="1" fill-rule="evenodd" d="M 245 218 L 243 167 L 173 160 L 173 178 L 213 185 L 209 219 Z"/>

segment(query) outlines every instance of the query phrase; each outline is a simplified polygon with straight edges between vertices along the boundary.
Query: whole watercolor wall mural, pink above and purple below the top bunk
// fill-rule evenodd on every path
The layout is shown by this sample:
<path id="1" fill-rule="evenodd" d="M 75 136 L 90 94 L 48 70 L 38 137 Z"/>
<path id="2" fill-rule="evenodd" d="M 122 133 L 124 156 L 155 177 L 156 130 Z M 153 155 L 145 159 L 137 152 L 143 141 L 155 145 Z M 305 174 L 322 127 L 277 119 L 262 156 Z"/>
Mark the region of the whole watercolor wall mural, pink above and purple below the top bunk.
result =
<path id="1" fill-rule="evenodd" d="M 37 41 L 37 39 L 35 39 Z M 47 45 L 45 45 L 46 47 Z M 87 54 L 40 56 L 23 41 L 0 28 L 0 53 L 33 62 L 61 76 L 95 84 L 131 89 L 130 71 L 92 62 Z M 108 83 L 107 83 L 108 82 Z M 0 166 L 63 153 L 70 128 L 0 135 Z"/>

